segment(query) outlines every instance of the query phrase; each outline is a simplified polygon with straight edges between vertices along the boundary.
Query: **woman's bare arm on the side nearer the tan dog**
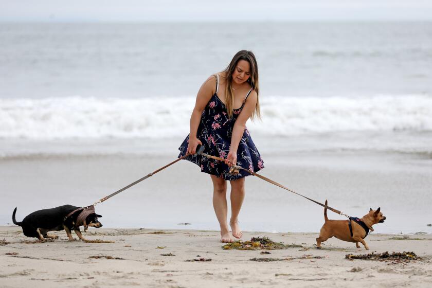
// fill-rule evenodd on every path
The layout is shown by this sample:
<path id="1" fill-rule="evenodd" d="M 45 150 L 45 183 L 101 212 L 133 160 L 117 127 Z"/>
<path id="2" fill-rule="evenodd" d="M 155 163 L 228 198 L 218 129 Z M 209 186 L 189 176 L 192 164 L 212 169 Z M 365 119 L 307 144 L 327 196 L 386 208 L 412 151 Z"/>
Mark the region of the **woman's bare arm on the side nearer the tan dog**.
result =
<path id="1" fill-rule="evenodd" d="M 240 140 L 243 136 L 244 129 L 246 127 L 246 121 L 254 113 L 255 106 L 257 105 L 258 95 L 255 91 L 252 91 L 246 99 L 246 103 L 243 106 L 242 112 L 237 117 L 232 129 L 231 145 L 229 146 L 229 153 L 226 157 L 225 164 L 237 165 L 237 149 L 239 148 Z"/>

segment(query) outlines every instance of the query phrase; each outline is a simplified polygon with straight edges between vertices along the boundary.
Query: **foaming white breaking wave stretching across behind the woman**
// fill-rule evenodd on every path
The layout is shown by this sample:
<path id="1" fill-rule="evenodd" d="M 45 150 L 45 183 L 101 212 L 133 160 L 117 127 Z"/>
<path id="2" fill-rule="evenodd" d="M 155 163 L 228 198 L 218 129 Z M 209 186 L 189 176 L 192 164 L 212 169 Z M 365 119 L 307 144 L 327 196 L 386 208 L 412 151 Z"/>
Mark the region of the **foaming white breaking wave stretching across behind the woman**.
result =
<path id="1" fill-rule="evenodd" d="M 432 97 L 261 96 L 256 135 L 289 136 L 344 131 L 431 131 Z M 0 137 L 165 138 L 186 136 L 193 97 L 0 99 Z"/>

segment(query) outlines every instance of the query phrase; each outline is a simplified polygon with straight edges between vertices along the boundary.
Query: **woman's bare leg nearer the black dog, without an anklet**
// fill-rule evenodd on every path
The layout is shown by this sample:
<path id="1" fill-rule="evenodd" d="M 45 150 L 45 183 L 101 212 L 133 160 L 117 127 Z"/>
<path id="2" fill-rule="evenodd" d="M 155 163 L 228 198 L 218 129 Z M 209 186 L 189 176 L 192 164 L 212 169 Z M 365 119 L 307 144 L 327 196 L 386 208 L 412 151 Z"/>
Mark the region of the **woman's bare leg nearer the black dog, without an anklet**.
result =
<path id="1" fill-rule="evenodd" d="M 233 242 L 227 223 L 226 181 L 222 177 L 210 175 L 213 182 L 213 208 L 221 226 L 221 242 Z"/>

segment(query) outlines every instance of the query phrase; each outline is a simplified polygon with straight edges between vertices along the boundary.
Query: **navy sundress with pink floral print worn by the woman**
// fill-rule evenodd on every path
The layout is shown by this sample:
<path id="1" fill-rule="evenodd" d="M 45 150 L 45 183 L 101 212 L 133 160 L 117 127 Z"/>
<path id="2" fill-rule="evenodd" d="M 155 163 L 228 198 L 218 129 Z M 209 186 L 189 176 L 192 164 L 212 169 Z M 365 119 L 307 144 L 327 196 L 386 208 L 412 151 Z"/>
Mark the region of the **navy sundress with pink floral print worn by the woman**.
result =
<path id="1" fill-rule="evenodd" d="M 249 93 L 246 95 L 242 106 L 239 109 L 234 109 L 232 111 L 233 118 L 229 119 L 225 104 L 218 97 L 218 88 L 219 75 L 217 75 L 216 92 L 211 97 L 203 111 L 200 125 L 196 132 L 196 137 L 203 143 L 205 153 L 226 158 L 231 144 L 231 135 L 234 123 L 242 111 L 244 103 L 252 89 L 250 89 Z M 178 148 L 178 150 L 180 150 L 178 157 L 186 155 L 188 143 L 189 135 Z M 190 155 L 186 157 L 186 160 L 200 166 L 202 172 L 213 174 L 229 181 L 250 175 L 243 170 L 240 170 L 240 173 L 238 174 L 229 174 L 229 167 L 225 163 L 214 159 L 208 159 L 202 155 Z M 237 165 L 253 172 L 257 172 L 264 168 L 261 155 L 255 147 L 246 127 L 237 150 Z"/>

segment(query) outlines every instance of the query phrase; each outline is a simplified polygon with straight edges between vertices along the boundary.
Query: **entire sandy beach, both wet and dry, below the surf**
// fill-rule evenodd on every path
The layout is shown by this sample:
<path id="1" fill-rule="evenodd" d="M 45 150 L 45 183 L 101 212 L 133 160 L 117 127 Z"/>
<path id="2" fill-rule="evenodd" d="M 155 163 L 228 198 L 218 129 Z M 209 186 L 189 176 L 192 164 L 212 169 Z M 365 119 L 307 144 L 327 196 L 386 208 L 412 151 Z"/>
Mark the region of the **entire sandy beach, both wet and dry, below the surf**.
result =
<path id="1" fill-rule="evenodd" d="M 274 146 L 273 146 L 274 147 Z M 276 153 L 276 152 L 275 152 Z M 114 243 L 23 235 L 16 219 L 42 208 L 89 205 L 161 165 L 168 155 L 9 157 L 0 161 L 1 287 L 429 287 L 432 284 L 430 163 L 404 155 L 359 153 L 267 154 L 262 172 L 314 199 L 361 217 L 381 206 L 385 223 L 374 225 L 370 250 L 330 239 L 316 249 L 321 207 L 250 177 L 240 220 L 243 241 L 269 237 L 295 245 L 281 250 L 225 250 L 219 242 L 209 179 L 181 161 L 96 206 L 104 225 L 84 237 Z M 373 169 L 372 169 L 373 168 Z M 407 173 L 409 171 L 409 173 Z M 349 193 L 355 192 L 355 193 Z M 416 195 L 411 199 L 407 193 Z M 347 194 L 348 193 L 348 194 Z M 403 211 L 403 213 L 401 213 Z M 330 219 L 344 219 L 329 212 Z M 191 225 L 179 225 L 191 223 Z M 122 228 L 115 228 L 122 227 Z M 140 228 L 141 227 L 141 228 Z M 214 228 L 212 228 L 214 227 Z M 183 230 L 183 229 L 184 230 Z M 262 231 L 262 232 L 260 232 Z M 75 236 L 75 235 L 74 235 Z M 75 236 L 76 237 L 76 236 Z M 77 238 L 77 237 L 76 237 Z M 419 260 L 348 260 L 359 255 L 413 251 Z M 170 255 L 170 256 L 164 256 Z M 265 258 L 276 261 L 253 261 Z M 194 260 L 211 261 L 194 261 Z M 264 260 L 265 260 L 264 259 Z M 188 261 L 193 260 L 193 261 Z"/>

